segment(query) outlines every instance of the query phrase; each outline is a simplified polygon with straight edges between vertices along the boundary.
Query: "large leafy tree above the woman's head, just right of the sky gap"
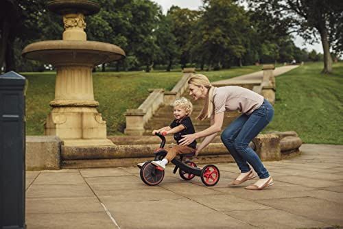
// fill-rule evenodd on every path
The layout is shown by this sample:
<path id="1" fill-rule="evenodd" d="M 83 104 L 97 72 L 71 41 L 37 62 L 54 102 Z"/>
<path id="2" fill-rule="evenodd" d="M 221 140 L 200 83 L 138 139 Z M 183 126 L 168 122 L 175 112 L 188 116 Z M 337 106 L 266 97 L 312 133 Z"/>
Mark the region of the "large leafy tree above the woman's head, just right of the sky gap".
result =
<path id="1" fill-rule="evenodd" d="M 192 36 L 192 53 L 198 60 L 206 60 L 209 69 L 230 67 L 230 60 L 241 59 L 246 53 L 247 34 L 250 30 L 244 8 L 234 1 L 204 0 L 203 12 Z"/>

